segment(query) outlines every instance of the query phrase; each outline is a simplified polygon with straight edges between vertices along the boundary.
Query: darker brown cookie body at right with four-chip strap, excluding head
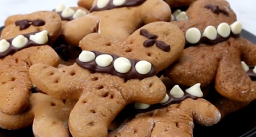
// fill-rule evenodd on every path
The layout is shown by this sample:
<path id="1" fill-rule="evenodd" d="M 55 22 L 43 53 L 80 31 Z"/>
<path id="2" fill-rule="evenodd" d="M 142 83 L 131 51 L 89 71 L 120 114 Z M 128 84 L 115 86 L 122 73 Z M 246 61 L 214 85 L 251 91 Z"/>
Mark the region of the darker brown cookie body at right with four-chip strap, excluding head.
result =
<path id="1" fill-rule="evenodd" d="M 217 28 L 208 26 L 201 34 L 192 27 L 186 31 L 188 46 L 177 62 L 167 70 L 175 83 L 202 87 L 215 81 L 215 89 L 222 96 L 250 102 L 256 98 L 254 81 L 247 75 L 246 65 L 256 64 L 256 47 L 244 38 L 239 38 L 242 24 L 221 23 Z M 241 64 L 241 61 L 242 62 Z M 245 66 L 245 67 L 243 67 Z"/>

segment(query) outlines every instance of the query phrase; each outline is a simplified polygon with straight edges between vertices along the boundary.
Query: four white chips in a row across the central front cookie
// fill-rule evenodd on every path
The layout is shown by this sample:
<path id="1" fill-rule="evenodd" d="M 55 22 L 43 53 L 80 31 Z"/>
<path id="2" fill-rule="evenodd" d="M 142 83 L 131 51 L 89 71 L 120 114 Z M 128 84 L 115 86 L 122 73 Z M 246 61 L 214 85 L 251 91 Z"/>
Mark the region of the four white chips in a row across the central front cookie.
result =
<path id="1" fill-rule="evenodd" d="M 109 54 L 101 54 L 96 57 L 95 53 L 91 51 L 82 51 L 78 57 L 81 62 L 91 62 L 95 59 L 95 62 L 100 67 L 107 67 L 113 62 L 113 57 Z M 132 65 L 131 61 L 125 57 L 119 57 L 114 60 L 114 69 L 119 73 L 127 73 L 130 71 Z M 152 64 L 146 60 L 140 60 L 136 63 L 135 69 L 139 74 L 145 75 L 151 71 Z"/>

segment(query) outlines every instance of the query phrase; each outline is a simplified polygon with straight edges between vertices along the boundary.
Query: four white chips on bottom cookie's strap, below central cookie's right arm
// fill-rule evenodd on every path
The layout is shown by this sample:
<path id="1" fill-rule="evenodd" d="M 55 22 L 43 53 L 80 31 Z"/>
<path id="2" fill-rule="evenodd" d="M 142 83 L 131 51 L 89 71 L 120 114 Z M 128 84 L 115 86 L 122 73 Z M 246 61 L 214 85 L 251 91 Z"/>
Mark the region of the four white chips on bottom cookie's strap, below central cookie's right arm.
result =
<path id="1" fill-rule="evenodd" d="M 192 96 L 196 96 L 198 98 L 201 98 L 203 96 L 203 92 L 202 92 L 200 86 L 201 86 L 201 83 L 197 83 L 197 84 L 193 85 L 192 87 L 189 87 L 185 91 L 187 93 L 189 93 L 190 95 L 192 95 Z M 184 96 L 184 92 L 180 88 L 179 85 L 175 85 L 170 90 L 170 95 L 172 95 L 174 98 L 182 98 Z M 169 96 L 168 96 L 168 94 L 166 94 L 165 98 L 160 102 L 160 104 L 165 104 L 168 100 L 169 100 Z M 150 107 L 150 105 L 149 104 L 140 103 L 140 102 L 136 102 L 134 104 L 134 107 L 136 109 L 147 109 L 147 108 Z"/>

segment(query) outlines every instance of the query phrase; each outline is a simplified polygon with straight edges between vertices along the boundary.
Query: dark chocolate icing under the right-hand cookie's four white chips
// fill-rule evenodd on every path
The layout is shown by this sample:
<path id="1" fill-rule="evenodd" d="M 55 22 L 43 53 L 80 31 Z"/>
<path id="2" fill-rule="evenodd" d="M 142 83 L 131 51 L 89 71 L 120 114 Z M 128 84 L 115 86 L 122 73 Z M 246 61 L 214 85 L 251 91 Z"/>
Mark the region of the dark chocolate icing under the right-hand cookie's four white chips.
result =
<path id="1" fill-rule="evenodd" d="M 189 42 L 186 42 L 186 47 L 191 47 L 191 46 L 197 46 L 199 44 L 208 44 L 208 45 L 215 45 L 215 44 L 218 44 L 220 42 L 224 42 L 224 41 L 227 41 L 229 40 L 229 38 L 239 38 L 240 35 L 239 34 L 233 34 L 232 32 L 230 32 L 230 35 L 227 37 L 227 38 L 223 38 L 222 36 L 220 35 L 217 35 L 217 38 L 214 39 L 214 40 L 211 40 L 211 39 L 208 39 L 207 37 L 202 37 L 200 39 L 199 42 L 197 42 L 196 44 L 190 44 Z"/>

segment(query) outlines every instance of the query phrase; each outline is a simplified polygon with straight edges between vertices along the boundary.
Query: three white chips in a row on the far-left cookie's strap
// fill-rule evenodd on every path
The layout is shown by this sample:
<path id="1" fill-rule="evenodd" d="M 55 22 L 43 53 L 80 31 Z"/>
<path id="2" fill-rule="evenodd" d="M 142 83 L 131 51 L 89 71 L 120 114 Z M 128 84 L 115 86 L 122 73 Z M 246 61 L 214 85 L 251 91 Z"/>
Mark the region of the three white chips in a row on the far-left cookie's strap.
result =
<path id="1" fill-rule="evenodd" d="M 34 41 L 39 45 L 46 44 L 48 42 L 48 32 L 47 30 L 43 30 L 35 33 L 35 35 L 30 35 L 29 40 Z M 18 35 L 12 40 L 12 46 L 15 48 L 22 48 L 28 43 L 29 40 L 23 35 Z M 2 39 L 0 41 L 0 53 L 7 51 L 10 46 L 11 44 L 6 41 L 6 39 Z"/>

